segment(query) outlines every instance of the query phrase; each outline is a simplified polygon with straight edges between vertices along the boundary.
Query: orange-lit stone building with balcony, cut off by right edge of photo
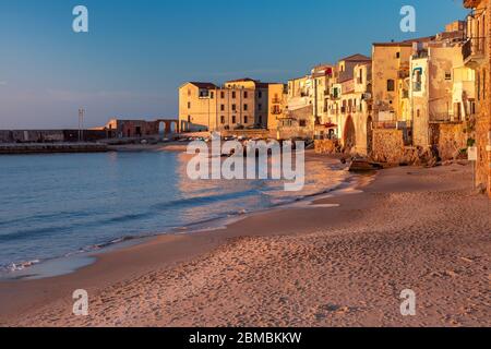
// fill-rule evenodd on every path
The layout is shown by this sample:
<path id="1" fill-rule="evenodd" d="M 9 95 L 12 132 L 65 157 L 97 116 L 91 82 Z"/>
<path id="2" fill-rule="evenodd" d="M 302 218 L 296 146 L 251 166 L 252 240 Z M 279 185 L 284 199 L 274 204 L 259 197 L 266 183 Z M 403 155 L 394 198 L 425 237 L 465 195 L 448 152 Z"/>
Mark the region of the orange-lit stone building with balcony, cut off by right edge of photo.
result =
<path id="1" fill-rule="evenodd" d="M 476 71 L 476 181 L 491 196 L 491 0 L 464 0 L 467 17 L 464 62 Z"/>

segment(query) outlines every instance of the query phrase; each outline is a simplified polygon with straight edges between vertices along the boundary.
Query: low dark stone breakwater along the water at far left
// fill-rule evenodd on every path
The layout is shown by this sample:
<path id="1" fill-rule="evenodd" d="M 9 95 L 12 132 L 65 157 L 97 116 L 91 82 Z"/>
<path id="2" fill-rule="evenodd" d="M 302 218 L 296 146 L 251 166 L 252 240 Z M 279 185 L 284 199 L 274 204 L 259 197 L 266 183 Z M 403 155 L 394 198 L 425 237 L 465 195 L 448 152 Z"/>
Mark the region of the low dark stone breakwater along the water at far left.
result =
<path id="1" fill-rule="evenodd" d="M 104 153 L 106 144 L 99 143 L 29 143 L 0 144 L 0 154 L 50 154 L 50 153 Z"/>

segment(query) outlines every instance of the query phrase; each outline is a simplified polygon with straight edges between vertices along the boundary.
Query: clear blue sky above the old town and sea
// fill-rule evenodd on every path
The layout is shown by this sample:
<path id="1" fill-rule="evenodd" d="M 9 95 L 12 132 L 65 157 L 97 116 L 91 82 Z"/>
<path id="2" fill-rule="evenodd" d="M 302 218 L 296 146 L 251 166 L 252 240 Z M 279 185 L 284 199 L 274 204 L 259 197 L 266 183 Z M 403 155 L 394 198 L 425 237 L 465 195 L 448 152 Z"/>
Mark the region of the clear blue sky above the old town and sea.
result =
<path id="1" fill-rule="evenodd" d="M 434 35 L 462 0 L 0 0 L 0 129 L 76 128 L 110 117 L 176 118 L 178 87 L 286 82 L 371 43 Z M 72 31 L 88 9 L 89 33 Z M 417 33 L 399 29 L 417 10 Z"/>

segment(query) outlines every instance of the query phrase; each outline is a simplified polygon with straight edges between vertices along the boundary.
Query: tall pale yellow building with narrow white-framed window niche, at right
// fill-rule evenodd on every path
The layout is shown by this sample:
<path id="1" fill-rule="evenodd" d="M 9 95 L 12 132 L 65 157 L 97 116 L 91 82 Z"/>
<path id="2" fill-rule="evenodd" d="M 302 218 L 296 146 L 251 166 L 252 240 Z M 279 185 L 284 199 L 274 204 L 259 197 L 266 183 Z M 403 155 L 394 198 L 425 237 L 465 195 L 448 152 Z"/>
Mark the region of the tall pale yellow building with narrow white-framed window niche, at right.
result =
<path id="1" fill-rule="evenodd" d="M 441 125 L 453 124 L 454 142 L 447 146 L 454 146 L 455 154 L 445 156 L 451 158 L 467 147 L 470 134 L 466 132 L 466 123 L 475 109 L 475 74 L 464 65 L 462 46 L 462 36 L 416 45 L 410 59 L 411 144 L 439 145 L 440 131 L 444 129 Z"/>

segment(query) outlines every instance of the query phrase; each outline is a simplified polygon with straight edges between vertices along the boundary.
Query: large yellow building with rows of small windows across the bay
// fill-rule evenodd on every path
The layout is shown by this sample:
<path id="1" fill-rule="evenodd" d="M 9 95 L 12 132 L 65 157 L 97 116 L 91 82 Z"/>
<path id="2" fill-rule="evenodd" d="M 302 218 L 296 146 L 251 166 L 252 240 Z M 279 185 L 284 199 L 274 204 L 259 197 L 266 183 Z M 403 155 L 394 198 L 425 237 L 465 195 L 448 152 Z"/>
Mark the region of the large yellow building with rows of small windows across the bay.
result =
<path id="1" fill-rule="evenodd" d="M 270 88 L 276 91 L 277 85 L 252 79 L 229 81 L 223 86 L 185 83 L 179 87 L 180 129 L 182 132 L 266 129 L 273 105 Z"/>

